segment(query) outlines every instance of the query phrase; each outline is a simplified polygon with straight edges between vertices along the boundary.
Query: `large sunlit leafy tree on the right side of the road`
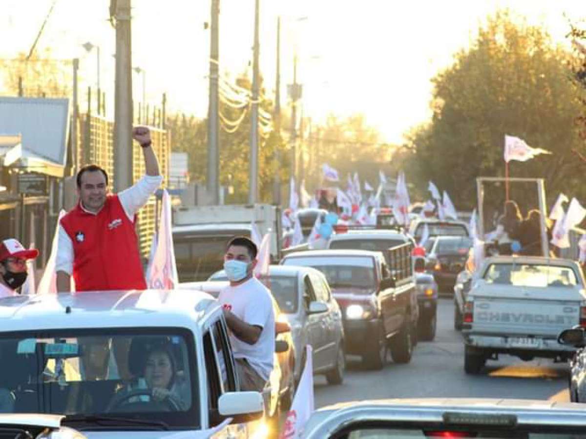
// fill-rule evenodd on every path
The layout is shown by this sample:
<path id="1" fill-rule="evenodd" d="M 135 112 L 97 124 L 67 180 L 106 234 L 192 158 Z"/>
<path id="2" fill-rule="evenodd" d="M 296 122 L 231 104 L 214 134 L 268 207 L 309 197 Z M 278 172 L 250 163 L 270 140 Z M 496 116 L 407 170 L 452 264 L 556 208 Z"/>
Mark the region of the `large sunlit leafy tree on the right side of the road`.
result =
<path id="1" fill-rule="evenodd" d="M 410 135 L 411 168 L 421 184 L 434 180 L 457 204 L 474 204 L 475 177 L 503 176 L 505 134 L 553 155 L 511 162 L 513 177 L 544 177 L 551 197 L 559 191 L 586 196 L 576 117 L 581 113 L 568 81 L 569 54 L 539 27 L 499 12 L 481 26 L 470 49 L 434 79 L 429 124 Z"/>

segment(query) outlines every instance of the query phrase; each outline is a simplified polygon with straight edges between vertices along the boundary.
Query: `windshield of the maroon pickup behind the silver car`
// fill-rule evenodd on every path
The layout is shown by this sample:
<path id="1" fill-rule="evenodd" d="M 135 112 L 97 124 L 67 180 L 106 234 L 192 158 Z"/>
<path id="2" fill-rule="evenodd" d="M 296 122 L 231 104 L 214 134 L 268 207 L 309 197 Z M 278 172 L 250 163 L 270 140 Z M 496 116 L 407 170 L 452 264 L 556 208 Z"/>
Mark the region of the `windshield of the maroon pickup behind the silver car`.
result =
<path id="1" fill-rule="evenodd" d="M 284 265 L 299 265 L 319 270 L 332 289 L 350 287 L 368 291 L 374 288 L 372 258 L 287 258 Z"/>

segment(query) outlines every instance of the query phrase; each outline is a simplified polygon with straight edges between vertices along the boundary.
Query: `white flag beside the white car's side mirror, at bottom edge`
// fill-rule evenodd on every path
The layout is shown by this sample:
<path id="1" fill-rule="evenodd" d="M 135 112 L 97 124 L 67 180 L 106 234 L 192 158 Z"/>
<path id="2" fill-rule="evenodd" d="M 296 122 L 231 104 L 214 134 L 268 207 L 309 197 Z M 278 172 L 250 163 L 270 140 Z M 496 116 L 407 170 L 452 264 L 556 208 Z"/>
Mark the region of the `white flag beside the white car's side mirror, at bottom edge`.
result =
<path id="1" fill-rule="evenodd" d="M 311 345 L 306 346 L 306 360 L 299 380 L 297 392 L 293 397 L 291 409 L 287 413 L 280 435 L 281 439 L 301 438 L 303 428 L 309 417 L 314 413 L 314 366 Z"/>

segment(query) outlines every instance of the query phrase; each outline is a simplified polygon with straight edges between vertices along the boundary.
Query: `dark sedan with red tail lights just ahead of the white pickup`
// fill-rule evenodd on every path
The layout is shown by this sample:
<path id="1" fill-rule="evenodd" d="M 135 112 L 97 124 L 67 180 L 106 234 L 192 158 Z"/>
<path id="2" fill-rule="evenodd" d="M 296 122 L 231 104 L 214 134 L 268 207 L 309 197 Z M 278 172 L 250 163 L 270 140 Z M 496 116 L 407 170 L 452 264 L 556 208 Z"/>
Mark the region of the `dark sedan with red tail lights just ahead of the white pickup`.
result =
<path id="1" fill-rule="evenodd" d="M 456 276 L 468 259 L 472 239 L 466 236 L 436 236 L 427 252 L 426 268 L 434 275 L 440 292 L 454 291 Z"/>

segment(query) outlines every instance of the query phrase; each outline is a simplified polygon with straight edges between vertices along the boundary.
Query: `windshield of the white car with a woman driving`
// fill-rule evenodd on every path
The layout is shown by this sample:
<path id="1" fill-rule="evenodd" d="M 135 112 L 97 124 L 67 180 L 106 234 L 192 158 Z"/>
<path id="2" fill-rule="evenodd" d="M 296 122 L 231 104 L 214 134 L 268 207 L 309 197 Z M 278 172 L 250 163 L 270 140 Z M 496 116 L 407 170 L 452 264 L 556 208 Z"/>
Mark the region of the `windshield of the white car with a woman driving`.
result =
<path id="1" fill-rule="evenodd" d="M 197 362 L 190 345 L 193 337 L 179 329 L 3 336 L 0 412 L 107 414 L 198 426 Z"/>

